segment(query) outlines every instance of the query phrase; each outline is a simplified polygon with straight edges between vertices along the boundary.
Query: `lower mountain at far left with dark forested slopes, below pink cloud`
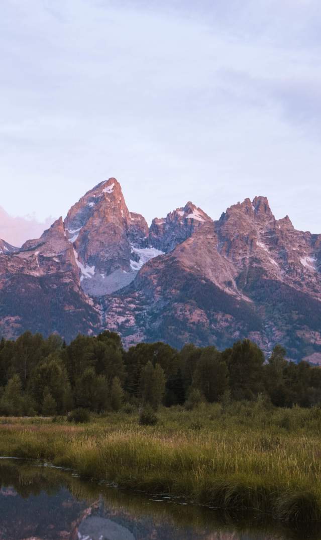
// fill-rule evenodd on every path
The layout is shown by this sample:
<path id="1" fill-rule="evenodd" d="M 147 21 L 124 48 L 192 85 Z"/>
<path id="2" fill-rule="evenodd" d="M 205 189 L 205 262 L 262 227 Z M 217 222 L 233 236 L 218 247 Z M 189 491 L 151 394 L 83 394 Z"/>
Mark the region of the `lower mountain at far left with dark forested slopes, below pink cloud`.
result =
<path id="1" fill-rule="evenodd" d="M 95 332 L 99 311 L 79 280 L 62 218 L 17 252 L 0 254 L 0 334 L 15 338 L 25 330 L 58 332 L 70 340 L 78 332 Z"/>

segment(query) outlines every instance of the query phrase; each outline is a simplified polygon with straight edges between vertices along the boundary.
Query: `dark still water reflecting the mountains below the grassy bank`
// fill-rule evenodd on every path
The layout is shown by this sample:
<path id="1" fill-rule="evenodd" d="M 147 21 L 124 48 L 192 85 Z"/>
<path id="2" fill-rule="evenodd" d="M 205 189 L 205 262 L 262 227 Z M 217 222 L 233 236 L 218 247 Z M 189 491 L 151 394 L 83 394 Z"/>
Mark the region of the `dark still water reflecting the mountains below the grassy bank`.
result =
<path id="1" fill-rule="evenodd" d="M 0 540 L 317 540 L 320 531 L 129 493 L 38 462 L 0 460 Z"/>

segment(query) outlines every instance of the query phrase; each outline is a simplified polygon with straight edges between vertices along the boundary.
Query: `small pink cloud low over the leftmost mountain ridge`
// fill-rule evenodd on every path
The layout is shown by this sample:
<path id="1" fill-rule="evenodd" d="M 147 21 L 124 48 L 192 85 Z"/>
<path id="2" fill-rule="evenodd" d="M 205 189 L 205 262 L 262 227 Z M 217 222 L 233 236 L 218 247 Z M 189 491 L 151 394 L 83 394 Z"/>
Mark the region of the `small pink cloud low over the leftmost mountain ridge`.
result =
<path id="1" fill-rule="evenodd" d="M 26 240 L 39 238 L 52 222 L 51 217 L 44 222 L 37 221 L 32 215 L 14 218 L 0 206 L 0 238 L 12 246 L 19 247 Z"/>

